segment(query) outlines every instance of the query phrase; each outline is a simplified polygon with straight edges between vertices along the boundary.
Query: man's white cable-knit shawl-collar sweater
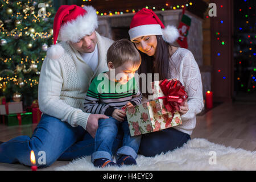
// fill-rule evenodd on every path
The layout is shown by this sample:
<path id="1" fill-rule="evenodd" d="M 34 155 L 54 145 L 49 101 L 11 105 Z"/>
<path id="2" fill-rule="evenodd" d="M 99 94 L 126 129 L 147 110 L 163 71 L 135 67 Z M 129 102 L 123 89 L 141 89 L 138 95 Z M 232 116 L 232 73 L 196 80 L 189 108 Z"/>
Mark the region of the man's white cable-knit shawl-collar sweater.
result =
<path id="1" fill-rule="evenodd" d="M 102 37 L 97 32 L 96 36 L 99 55 L 95 72 L 67 42 L 59 43 L 64 48 L 60 59 L 51 60 L 46 56 L 43 61 L 38 88 L 39 109 L 73 127 L 80 125 L 86 129 L 90 115 L 83 111 L 86 92 L 94 77 L 109 70 L 106 54 L 113 40 Z"/>

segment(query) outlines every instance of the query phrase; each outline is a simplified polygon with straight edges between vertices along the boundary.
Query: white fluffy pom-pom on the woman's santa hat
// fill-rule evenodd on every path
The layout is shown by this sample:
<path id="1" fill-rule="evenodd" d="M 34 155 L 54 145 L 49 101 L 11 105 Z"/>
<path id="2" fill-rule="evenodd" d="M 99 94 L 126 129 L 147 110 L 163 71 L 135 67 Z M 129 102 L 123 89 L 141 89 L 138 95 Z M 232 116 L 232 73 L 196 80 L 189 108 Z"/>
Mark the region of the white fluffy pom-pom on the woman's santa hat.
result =
<path id="1" fill-rule="evenodd" d="M 166 28 L 162 29 L 162 32 L 164 41 L 168 43 L 174 43 L 180 36 L 180 33 L 175 26 L 168 25 Z"/>

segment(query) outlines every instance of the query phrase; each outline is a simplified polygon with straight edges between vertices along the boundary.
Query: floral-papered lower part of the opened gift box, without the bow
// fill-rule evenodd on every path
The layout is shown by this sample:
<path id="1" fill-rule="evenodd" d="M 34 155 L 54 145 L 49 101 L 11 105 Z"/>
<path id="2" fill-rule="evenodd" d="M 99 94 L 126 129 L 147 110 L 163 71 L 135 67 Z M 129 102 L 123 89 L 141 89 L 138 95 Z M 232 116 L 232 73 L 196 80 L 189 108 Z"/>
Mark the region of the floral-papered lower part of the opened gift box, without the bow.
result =
<path id="1" fill-rule="evenodd" d="M 179 112 L 162 114 L 159 101 L 144 102 L 126 108 L 131 136 L 160 131 L 182 124 Z"/>

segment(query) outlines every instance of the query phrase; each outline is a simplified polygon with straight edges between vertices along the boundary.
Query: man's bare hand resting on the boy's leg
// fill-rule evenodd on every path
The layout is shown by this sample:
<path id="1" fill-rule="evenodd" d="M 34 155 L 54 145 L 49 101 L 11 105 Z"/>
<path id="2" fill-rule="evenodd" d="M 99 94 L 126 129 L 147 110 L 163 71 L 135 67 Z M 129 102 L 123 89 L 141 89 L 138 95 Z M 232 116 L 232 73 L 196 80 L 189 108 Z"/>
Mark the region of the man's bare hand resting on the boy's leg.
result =
<path id="1" fill-rule="evenodd" d="M 90 114 L 87 125 L 86 125 L 86 131 L 95 138 L 96 131 L 98 129 L 98 119 L 108 119 L 109 117 L 104 114 Z"/>

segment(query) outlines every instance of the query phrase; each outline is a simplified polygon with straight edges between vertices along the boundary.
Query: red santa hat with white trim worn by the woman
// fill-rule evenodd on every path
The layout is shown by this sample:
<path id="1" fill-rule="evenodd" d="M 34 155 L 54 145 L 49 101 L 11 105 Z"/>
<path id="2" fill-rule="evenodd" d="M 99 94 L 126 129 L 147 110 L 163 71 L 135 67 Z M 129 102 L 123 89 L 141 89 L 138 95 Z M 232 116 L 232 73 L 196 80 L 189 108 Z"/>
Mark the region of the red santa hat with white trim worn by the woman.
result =
<path id="1" fill-rule="evenodd" d="M 162 35 L 164 41 L 174 43 L 180 34 L 174 26 L 164 27 L 154 11 L 143 8 L 133 16 L 129 35 L 131 40 L 146 35 Z"/>

